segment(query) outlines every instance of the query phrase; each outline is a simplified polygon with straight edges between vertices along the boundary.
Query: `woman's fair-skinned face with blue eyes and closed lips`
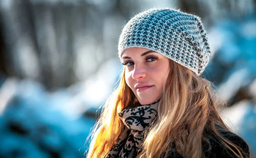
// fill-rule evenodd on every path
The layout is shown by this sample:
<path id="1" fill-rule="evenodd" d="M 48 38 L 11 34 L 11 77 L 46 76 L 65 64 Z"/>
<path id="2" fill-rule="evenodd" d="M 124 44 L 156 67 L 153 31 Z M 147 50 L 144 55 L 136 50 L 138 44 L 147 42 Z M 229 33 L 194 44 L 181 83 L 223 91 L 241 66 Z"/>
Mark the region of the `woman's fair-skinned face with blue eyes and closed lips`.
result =
<path id="1" fill-rule="evenodd" d="M 142 105 L 160 99 L 163 83 L 169 73 L 169 58 L 150 49 L 125 49 L 121 58 L 125 65 L 125 82 Z"/>

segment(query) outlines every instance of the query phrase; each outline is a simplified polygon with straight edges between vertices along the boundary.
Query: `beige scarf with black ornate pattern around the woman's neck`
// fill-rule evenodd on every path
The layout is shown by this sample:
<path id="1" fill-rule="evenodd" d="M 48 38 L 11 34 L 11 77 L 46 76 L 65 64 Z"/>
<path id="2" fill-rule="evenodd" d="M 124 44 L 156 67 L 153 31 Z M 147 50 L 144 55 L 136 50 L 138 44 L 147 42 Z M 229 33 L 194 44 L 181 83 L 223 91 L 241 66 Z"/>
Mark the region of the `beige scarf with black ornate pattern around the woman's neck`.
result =
<path id="1" fill-rule="evenodd" d="M 135 108 L 119 113 L 125 126 L 106 158 L 135 158 L 140 152 L 145 137 L 142 132 L 148 129 L 156 118 L 158 102 L 144 106 L 139 102 L 135 104 Z"/>

